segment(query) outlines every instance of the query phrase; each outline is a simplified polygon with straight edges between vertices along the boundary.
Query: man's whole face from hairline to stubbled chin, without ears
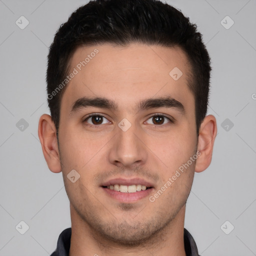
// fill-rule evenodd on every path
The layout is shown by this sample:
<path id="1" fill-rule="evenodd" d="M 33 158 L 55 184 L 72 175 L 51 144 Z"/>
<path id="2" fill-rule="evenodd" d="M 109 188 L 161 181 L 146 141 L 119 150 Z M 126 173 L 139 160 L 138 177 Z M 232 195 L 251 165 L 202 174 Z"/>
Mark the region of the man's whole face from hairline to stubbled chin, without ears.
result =
<path id="1" fill-rule="evenodd" d="M 74 52 L 58 133 L 71 218 L 132 243 L 181 214 L 197 157 L 189 68 L 178 47 L 102 44 Z M 67 178 L 73 169 L 75 182 Z"/>

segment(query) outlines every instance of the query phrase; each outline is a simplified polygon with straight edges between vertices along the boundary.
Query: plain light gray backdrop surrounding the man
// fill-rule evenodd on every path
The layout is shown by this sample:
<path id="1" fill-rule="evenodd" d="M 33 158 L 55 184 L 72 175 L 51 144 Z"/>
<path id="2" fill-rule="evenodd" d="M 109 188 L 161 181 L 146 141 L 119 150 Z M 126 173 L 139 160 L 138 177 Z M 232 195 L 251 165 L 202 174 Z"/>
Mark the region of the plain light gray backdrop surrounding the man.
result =
<path id="1" fill-rule="evenodd" d="M 49 113 L 48 46 L 59 25 L 86 2 L 0 0 L 1 256 L 49 255 L 59 233 L 70 226 L 62 173 L 48 169 L 37 125 L 40 115 Z M 202 256 L 256 255 L 256 1 L 168 3 L 203 34 L 213 68 L 208 113 L 218 127 L 211 165 L 195 173 L 185 227 Z M 21 15 L 29 21 L 24 29 L 15 24 Z M 227 15 L 234 21 L 229 29 Z M 21 220 L 29 226 L 24 234 L 15 228 Z"/>

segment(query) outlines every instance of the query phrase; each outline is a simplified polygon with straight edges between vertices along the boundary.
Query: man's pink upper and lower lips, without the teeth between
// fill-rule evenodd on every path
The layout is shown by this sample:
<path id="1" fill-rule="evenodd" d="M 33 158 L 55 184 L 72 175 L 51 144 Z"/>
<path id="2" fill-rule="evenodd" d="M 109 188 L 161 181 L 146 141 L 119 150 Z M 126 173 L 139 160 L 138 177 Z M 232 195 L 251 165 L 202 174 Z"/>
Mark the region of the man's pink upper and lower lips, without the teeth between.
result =
<path id="1" fill-rule="evenodd" d="M 106 186 L 109 185 L 114 185 L 114 184 L 119 184 L 119 185 L 145 185 L 147 188 L 146 190 L 140 190 L 132 193 L 128 192 L 120 192 L 120 191 L 115 191 L 112 189 L 107 188 Z M 138 201 L 146 196 L 148 196 L 152 190 L 154 189 L 152 183 L 149 181 L 146 181 L 142 178 L 129 178 L 129 179 L 124 179 L 124 178 L 114 178 L 110 179 L 104 183 L 101 184 L 101 189 L 106 193 L 107 196 L 110 196 L 111 198 L 122 202 L 122 203 L 128 203 L 128 202 L 135 202 Z"/>

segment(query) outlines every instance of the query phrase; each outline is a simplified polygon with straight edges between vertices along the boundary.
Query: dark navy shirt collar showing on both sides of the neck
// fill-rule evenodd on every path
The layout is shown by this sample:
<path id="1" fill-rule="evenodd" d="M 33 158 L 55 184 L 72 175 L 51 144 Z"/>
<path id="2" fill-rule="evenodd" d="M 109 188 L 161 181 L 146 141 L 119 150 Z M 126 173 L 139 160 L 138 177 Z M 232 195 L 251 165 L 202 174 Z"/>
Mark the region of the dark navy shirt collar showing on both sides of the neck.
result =
<path id="1" fill-rule="evenodd" d="M 50 256 L 68 256 L 70 248 L 71 227 L 64 229 L 57 241 L 57 248 Z M 200 256 L 192 235 L 184 228 L 184 246 L 186 256 Z"/>

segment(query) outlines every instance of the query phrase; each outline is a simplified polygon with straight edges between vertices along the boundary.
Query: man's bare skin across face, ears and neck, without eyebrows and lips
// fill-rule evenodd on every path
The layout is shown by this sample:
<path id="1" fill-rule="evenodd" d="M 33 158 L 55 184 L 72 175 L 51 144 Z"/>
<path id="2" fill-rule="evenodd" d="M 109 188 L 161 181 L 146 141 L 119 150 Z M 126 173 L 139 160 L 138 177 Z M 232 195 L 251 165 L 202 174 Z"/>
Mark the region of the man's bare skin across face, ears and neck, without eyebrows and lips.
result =
<path id="1" fill-rule="evenodd" d="M 185 202 L 194 171 L 211 161 L 216 120 L 207 115 L 196 134 L 194 96 L 188 87 L 190 65 L 179 47 L 130 44 L 78 48 L 70 71 L 99 50 L 68 83 L 60 106 L 58 142 L 56 129 L 47 114 L 40 117 L 38 136 L 49 169 L 62 171 L 70 200 L 71 245 L 74 255 L 180 255 L 184 256 L 183 227 Z M 174 80 L 169 72 L 178 67 L 183 75 Z M 169 95 L 184 106 L 158 107 L 138 111 L 137 102 Z M 105 97 L 118 110 L 87 107 L 70 113 L 82 96 Z M 102 115 L 102 124 L 93 126 L 88 114 Z M 158 124 L 152 114 L 174 119 Z M 126 118 L 131 126 L 123 131 L 118 123 Z M 94 120 L 95 123 L 95 120 Z M 154 195 L 189 157 L 200 151 L 196 161 L 174 180 L 154 202 Z M 67 178 L 75 169 L 80 178 Z M 122 203 L 100 187 L 111 178 L 143 178 L 153 184 L 148 196 Z"/>

